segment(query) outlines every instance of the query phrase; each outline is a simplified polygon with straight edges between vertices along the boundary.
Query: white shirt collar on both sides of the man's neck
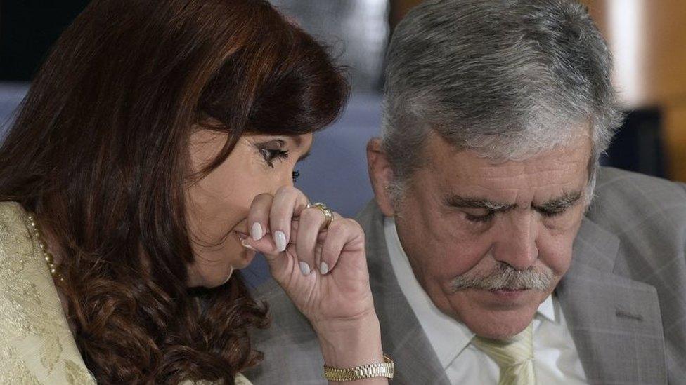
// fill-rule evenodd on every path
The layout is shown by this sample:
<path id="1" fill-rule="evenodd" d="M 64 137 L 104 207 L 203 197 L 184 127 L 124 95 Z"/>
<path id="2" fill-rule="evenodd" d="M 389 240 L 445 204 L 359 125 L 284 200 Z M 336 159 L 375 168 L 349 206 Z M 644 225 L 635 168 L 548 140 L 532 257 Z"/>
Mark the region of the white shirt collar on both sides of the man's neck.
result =
<path id="1" fill-rule="evenodd" d="M 405 295 L 408 304 L 422 325 L 429 343 L 434 347 L 441 365 L 446 368 L 470 344 L 474 333 L 455 318 L 446 316 L 441 312 L 417 281 L 405 250 L 400 243 L 394 218 L 385 218 L 384 235 L 386 236 L 391 266 L 403 295 Z M 557 323 L 552 296 L 548 296 L 538 306 L 536 318 Z"/>

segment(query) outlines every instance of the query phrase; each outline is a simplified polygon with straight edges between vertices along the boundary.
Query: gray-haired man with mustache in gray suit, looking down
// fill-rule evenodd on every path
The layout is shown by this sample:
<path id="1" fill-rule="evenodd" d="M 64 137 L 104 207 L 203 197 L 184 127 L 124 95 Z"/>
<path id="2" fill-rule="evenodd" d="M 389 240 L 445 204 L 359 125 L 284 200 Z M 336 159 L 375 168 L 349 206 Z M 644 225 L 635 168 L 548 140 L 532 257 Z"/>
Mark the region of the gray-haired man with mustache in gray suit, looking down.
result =
<path id="1" fill-rule="evenodd" d="M 394 384 L 684 384 L 686 186 L 599 166 L 621 114 L 585 8 L 425 1 L 387 58 L 358 220 Z M 256 383 L 319 383 L 263 293 Z"/>

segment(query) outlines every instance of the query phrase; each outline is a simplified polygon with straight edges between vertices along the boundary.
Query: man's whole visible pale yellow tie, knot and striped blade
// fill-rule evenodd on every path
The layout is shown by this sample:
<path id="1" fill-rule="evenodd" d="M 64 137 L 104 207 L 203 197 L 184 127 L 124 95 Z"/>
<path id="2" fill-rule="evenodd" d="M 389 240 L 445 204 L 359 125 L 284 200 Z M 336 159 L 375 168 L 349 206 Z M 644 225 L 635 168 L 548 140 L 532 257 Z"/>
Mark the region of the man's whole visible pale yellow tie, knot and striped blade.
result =
<path id="1" fill-rule="evenodd" d="M 533 385 L 533 325 L 507 340 L 474 337 L 472 344 L 500 367 L 498 385 Z"/>

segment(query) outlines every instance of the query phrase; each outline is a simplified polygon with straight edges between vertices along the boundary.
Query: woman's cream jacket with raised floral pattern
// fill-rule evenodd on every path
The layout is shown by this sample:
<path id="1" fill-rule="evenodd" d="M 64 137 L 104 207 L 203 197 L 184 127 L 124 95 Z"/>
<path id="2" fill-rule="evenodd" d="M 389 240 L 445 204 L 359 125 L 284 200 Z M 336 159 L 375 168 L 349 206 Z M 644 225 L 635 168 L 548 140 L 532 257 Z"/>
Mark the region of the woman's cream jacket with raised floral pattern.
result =
<path id="1" fill-rule="evenodd" d="M 26 218 L 18 203 L 0 202 L 0 383 L 96 384 Z"/>

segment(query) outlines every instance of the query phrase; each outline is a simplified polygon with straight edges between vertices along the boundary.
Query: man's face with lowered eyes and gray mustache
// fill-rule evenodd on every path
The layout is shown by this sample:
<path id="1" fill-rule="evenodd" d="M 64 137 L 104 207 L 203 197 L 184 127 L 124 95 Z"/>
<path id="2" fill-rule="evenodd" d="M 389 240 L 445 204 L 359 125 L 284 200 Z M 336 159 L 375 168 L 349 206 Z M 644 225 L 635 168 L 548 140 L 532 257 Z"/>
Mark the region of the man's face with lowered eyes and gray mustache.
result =
<path id="1" fill-rule="evenodd" d="M 415 276 L 477 335 L 515 335 L 569 269 L 590 140 L 506 163 L 456 151 L 437 135 L 425 151 L 429 162 L 394 207 Z"/>

